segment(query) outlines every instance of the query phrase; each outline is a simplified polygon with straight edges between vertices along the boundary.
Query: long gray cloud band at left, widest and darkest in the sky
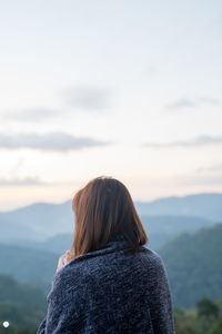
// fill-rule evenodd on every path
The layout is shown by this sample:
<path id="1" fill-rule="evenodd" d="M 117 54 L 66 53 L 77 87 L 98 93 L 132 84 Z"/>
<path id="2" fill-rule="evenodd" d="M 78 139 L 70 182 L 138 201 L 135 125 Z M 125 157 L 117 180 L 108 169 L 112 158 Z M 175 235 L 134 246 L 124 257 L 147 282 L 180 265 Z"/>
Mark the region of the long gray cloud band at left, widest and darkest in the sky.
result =
<path id="1" fill-rule="evenodd" d="M 68 151 L 82 148 L 109 145 L 90 137 L 74 137 L 63 132 L 1 135 L 0 148 L 31 148 L 41 150 Z"/>

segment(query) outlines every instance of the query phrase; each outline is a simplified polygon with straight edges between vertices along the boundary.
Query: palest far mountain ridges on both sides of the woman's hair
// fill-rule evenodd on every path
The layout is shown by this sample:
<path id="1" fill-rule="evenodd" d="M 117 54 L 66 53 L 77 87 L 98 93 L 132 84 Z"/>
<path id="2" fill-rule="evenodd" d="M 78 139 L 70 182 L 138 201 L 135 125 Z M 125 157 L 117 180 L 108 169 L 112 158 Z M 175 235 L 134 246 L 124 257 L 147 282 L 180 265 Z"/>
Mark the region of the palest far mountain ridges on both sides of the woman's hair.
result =
<path id="1" fill-rule="evenodd" d="M 135 206 L 154 248 L 181 232 L 195 232 L 200 227 L 212 226 L 222 217 L 221 194 L 169 197 L 135 203 Z M 72 234 L 73 226 L 71 200 L 63 204 L 38 203 L 0 213 L 0 242 L 11 240 L 17 244 L 19 239 L 46 240 L 58 234 Z"/>

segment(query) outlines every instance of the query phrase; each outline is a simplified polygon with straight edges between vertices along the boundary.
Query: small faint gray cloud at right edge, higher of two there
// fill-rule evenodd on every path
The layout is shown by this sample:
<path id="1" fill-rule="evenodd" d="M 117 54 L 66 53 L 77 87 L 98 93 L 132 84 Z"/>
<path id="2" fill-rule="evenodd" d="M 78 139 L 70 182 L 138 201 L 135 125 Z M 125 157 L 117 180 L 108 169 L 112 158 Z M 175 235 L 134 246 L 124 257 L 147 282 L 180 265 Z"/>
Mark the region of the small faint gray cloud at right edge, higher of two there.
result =
<path id="1" fill-rule="evenodd" d="M 220 101 L 210 97 L 196 97 L 193 99 L 181 98 L 167 106 L 169 110 L 193 109 L 204 105 L 219 106 Z"/>

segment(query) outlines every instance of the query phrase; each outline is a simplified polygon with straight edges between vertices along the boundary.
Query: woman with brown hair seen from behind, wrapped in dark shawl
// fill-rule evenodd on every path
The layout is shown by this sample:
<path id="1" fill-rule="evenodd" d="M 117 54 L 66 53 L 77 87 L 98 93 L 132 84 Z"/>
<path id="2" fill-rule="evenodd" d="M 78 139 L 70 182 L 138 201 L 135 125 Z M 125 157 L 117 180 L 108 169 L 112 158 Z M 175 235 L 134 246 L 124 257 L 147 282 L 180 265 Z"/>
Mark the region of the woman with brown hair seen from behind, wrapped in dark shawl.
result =
<path id="1" fill-rule="evenodd" d="M 59 259 L 38 334 L 173 334 L 171 295 L 160 256 L 128 188 L 98 177 L 73 197 L 73 259 Z"/>

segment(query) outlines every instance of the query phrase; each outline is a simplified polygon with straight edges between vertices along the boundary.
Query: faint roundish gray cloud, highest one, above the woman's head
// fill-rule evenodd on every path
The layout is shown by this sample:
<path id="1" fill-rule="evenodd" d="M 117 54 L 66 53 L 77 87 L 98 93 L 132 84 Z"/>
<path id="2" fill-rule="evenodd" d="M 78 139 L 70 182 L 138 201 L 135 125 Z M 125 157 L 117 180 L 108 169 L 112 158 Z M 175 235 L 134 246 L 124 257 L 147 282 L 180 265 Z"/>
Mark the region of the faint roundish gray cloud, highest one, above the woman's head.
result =
<path id="1" fill-rule="evenodd" d="M 63 91 L 67 105 L 84 110 L 103 110 L 110 107 L 111 90 L 98 87 L 75 87 Z"/>

